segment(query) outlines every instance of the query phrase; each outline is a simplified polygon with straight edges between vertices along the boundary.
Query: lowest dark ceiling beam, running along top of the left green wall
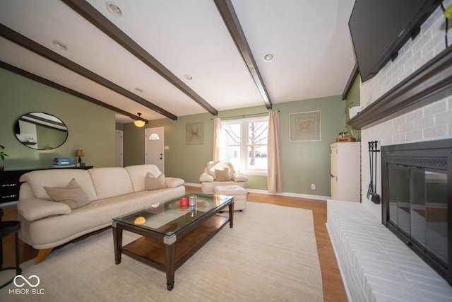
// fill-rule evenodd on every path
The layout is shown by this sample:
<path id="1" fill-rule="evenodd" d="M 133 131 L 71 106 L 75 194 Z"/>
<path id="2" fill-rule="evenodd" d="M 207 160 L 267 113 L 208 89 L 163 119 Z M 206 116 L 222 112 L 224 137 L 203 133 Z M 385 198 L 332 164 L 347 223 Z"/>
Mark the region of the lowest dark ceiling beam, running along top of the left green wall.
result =
<path id="1" fill-rule="evenodd" d="M 16 66 L 8 64 L 6 62 L 0 61 L 0 68 L 6 69 L 6 70 L 11 71 L 11 72 L 13 72 L 15 74 L 18 74 L 20 76 L 24 76 L 25 78 L 28 78 L 30 80 L 37 81 L 38 83 L 42 83 L 42 84 L 47 85 L 49 87 L 55 88 L 55 89 L 57 89 L 59 91 L 63 91 L 65 93 L 69 93 L 70 95 L 74 95 L 74 96 L 76 96 L 78 98 L 82 98 L 83 100 L 88 100 L 88 102 L 91 102 L 91 103 L 94 103 L 96 105 L 102 106 L 103 108 L 107 108 L 109 110 L 113 110 L 114 112 L 121 113 L 121 115 L 126 115 L 126 116 L 130 117 L 133 120 L 143 120 L 144 122 L 146 122 L 146 124 L 148 123 L 148 121 L 143 119 L 143 117 L 138 117 L 137 115 L 133 115 L 133 114 L 131 114 L 129 112 L 126 112 L 124 110 L 116 108 L 116 107 L 114 107 L 112 105 L 108 105 L 106 103 L 101 102 L 100 100 L 97 100 L 95 98 L 91 98 L 88 95 L 85 95 L 83 93 L 79 93 L 78 91 L 73 91 L 71 88 L 67 88 L 66 86 L 60 85 L 59 83 L 55 83 L 55 82 L 49 81 L 49 80 L 44 79 L 44 78 L 42 78 L 40 76 L 37 76 L 36 74 L 32 74 L 32 73 L 30 73 L 28 71 L 20 69 L 20 68 L 18 68 Z"/>

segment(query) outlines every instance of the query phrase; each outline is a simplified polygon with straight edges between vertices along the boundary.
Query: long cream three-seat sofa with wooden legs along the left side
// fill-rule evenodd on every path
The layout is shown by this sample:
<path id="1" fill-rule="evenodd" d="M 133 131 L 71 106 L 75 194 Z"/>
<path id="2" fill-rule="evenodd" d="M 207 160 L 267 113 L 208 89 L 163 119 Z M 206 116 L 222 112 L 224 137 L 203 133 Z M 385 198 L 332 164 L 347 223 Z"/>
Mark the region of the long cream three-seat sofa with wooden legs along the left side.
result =
<path id="1" fill-rule="evenodd" d="M 36 260 L 39 263 L 53 248 L 111 226 L 112 218 L 116 216 L 185 194 L 184 180 L 164 178 L 165 175 L 160 175 L 159 179 L 163 179 L 163 186 L 167 187 L 146 190 L 146 186 L 150 189 L 149 182 L 146 182 L 146 177 L 150 177 L 148 172 L 155 178 L 161 174 L 155 165 L 89 170 L 50 169 L 25 173 L 20 178 L 24 183 L 20 186 L 17 205 L 20 239 L 39 250 Z M 79 185 L 74 190 L 82 189 L 81 194 L 73 199 L 85 196 L 84 202 L 88 204 L 72 208 L 73 204 L 65 203 L 66 199 L 55 202 L 49 197 L 48 192 L 54 197 L 54 190 L 65 191 L 73 179 Z"/>

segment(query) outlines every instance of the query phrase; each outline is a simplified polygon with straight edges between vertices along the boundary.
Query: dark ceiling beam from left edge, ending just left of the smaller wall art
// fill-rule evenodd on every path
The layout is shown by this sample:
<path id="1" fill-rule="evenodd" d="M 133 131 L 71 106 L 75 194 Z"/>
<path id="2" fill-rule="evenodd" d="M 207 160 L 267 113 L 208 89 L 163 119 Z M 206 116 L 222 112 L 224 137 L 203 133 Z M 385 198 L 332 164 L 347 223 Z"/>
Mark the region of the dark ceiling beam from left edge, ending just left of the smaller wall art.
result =
<path id="1" fill-rule="evenodd" d="M 145 100 L 144 98 L 141 98 L 140 96 L 131 93 L 130 91 L 122 88 L 121 86 L 118 86 L 112 81 L 102 78 L 102 76 L 95 74 L 93 71 L 85 69 L 85 67 L 78 65 L 75 62 L 72 62 L 71 60 L 66 59 L 65 57 L 57 54 L 57 52 L 52 52 L 52 50 L 49 50 L 47 47 L 44 47 L 39 43 L 28 39 L 28 37 L 25 37 L 24 35 L 20 35 L 20 33 L 11 30 L 11 28 L 8 28 L 3 24 L 0 24 L 0 35 L 10 40 L 11 42 L 14 42 L 22 47 L 25 47 L 26 49 L 31 50 L 32 52 L 35 52 L 36 54 L 39 54 L 40 56 L 49 59 L 52 62 L 64 66 L 65 68 L 74 71 L 87 79 L 90 79 L 91 81 L 95 81 L 96 83 L 105 86 L 116 93 L 124 95 L 126 98 L 130 98 L 131 100 L 136 101 L 136 103 L 139 103 L 151 110 L 154 110 L 155 112 L 158 112 L 161 115 L 165 115 L 165 117 L 169 117 L 172 120 L 177 120 L 177 116 L 173 115 L 171 112 L 167 112 L 167 110 L 162 109 L 157 105 L 148 102 L 148 100 Z"/>

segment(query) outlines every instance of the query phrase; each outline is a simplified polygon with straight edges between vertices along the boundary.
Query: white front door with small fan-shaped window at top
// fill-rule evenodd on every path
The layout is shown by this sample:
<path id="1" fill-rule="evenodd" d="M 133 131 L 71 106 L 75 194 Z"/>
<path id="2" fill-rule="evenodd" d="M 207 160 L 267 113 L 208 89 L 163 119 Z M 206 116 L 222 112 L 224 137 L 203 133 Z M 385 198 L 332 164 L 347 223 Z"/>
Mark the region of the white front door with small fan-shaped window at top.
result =
<path id="1" fill-rule="evenodd" d="M 163 127 L 145 129 L 145 163 L 153 163 L 164 173 Z"/>

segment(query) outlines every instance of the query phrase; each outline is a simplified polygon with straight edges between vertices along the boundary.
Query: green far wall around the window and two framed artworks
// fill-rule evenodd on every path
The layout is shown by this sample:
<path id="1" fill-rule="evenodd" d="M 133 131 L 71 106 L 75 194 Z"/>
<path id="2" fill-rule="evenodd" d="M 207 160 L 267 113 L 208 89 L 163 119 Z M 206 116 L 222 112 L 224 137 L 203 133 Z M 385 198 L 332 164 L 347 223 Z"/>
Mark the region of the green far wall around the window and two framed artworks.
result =
<path id="1" fill-rule="evenodd" d="M 283 192 L 330 196 L 330 147 L 345 126 L 345 102 L 340 96 L 300 100 L 273 105 L 280 111 L 281 149 L 283 153 Z M 289 115 L 296 112 L 321 110 L 321 141 L 289 141 Z M 267 112 L 265 106 L 226 110 L 219 117 L 254 115 Z M 153 120 L 143 128 L 124 124 L 124 165 L 144 163 L 145 128 L 165 129 L 165 175 L 198 183 L 199 175 L 212 158 L 213 116 L 206 113 L 169 119 Z M 185 127 L 193 122 L 203 122 L 203 144 L 186 145 Z M 267 190 L 267 178 L 248 175 L 247 187 Z M 311 190 L 311 183 L 316 190 Z"/>

